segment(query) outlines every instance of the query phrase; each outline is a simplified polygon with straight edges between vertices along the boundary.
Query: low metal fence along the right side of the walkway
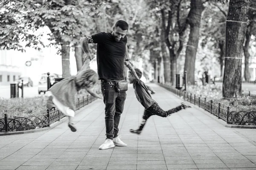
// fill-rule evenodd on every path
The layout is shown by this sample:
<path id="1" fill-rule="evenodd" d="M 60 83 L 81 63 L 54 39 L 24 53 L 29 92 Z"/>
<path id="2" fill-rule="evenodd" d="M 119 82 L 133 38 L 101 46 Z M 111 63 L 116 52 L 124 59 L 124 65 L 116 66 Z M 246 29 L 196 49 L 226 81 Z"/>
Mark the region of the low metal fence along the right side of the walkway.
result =
<path id="1" fill-rule="evenodd" d="M 171 91 L 178 96 L 182 96 L 185 101 L 193 103 L 205 111 L 215 115 L 218 119 L 226 121 L 228 124 L 236 125 L 256 125 L 256 111 L 245 112 L 245 111 L 231 111 L 229 107 L 221 106 L 221 103 L 215 103 L 214 101 L 208 101 L 207 98 L 201 98 L 195 94 L 187 91 L 178 90 L 172 85 L 165 85 L 158 83 L 163 88 Z M 244 94 L 247 95 L 247 94 Z M 251 94 L 250 94 L 251 95 Z"/>

